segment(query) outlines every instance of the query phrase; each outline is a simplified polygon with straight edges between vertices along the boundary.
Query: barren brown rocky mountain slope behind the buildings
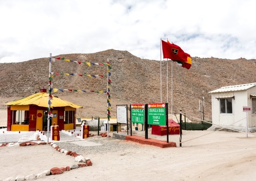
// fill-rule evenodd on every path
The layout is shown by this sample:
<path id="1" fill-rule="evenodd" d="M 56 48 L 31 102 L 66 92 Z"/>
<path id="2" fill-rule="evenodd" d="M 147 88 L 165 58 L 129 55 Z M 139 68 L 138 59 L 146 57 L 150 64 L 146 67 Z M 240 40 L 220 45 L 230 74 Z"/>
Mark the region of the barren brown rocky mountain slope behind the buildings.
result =
<path id="1" fill-rule="evenodd" d="M 66 54 L 65 59 L 111 63 L 111 115 L 116 116 L 117 104 L 143 104 L 160 102 L 160 61 L 141 59 L 128 51 L 106 50 L 88 54 Z M 106 74 L 106 66 L 77 64 L 57 60 L 52 72 L 77 74 Z M 256 60 L 239 58 L 192 57 L 192 67 L 187 70 L 173 63 L 173 113 L 183 113 L 200 118 L 199 100 L 205 99 L 205 120 L 211 120 L 211 94 L 222 86 L 256 82 Z M 171 113 L 171 61 L 168 61 L 168 110 Z M 38 58 L 20 63 L 0 64 L 0 109 L 6 102 L 26 97 L 48 87 L 49 58 Z M 166 61 L 162 61 L 162 102 L 166 102 Z M 53 77 L 54 88 L 78 90 L 106 90 L 107 78 L 90 78 L 59 75 Z M 83 106 L 77 116 L 106 116 L 105 93 L 60 92 L 54 95 Z"/>

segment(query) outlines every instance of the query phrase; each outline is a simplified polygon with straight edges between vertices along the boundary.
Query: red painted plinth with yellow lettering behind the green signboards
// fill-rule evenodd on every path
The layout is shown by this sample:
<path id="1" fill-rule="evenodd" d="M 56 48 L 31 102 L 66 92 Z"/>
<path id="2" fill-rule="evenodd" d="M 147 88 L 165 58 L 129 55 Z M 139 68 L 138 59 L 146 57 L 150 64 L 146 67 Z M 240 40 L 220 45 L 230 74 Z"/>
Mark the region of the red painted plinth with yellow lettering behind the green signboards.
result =
<path id="1" fill-rule="evenodd" d="M 166 135 L 166 126 L 163 125 L 152 125 L 151 134 L 163 136 Z M 173 121 L 172 119 L 168 119 L 168 133 L 169 135 L 179 135 L 180 134 L 180 125 Z"/>

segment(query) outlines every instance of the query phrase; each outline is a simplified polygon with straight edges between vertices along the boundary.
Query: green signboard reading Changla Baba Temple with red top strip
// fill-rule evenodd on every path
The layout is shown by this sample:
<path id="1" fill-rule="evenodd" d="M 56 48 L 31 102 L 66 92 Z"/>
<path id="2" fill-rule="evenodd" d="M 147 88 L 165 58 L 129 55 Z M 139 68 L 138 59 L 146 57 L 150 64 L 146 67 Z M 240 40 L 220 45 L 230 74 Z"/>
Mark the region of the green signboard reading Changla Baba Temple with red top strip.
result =
<path id="1" fill-rule="evenodd" d="M 148 124 L 166 125 L 165 103 L 148 104 Z"/>

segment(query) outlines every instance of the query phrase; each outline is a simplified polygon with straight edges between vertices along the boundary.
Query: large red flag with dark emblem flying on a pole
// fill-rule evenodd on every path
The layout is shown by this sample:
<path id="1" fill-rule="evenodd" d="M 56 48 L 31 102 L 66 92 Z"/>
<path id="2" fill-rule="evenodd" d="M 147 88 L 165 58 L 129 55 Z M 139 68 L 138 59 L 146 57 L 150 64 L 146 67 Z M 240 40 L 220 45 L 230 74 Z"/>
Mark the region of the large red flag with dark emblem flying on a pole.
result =
<path id="1" fill-rule="evenodd" d="M 185 53 L 180 46 L 165 42 L 164 40 L 162 40 L 162 49 L 164 58 L 170 58 L 185 63 L 187 62 L 187 57 L 190 57 L 190 55 Z"/>

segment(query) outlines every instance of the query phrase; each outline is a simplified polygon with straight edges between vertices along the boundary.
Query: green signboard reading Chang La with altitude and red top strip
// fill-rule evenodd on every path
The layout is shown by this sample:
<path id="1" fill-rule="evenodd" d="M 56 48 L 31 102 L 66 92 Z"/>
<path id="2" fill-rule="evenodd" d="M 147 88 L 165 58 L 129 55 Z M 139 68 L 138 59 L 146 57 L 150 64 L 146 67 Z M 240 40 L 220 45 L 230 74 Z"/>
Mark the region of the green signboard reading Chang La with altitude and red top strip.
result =
<path id="1" fill-rule="evenodd" d="M 131 104 L 130 108 L 132 123 L 144 124 L 144 104 Z"/>

